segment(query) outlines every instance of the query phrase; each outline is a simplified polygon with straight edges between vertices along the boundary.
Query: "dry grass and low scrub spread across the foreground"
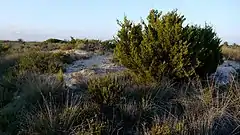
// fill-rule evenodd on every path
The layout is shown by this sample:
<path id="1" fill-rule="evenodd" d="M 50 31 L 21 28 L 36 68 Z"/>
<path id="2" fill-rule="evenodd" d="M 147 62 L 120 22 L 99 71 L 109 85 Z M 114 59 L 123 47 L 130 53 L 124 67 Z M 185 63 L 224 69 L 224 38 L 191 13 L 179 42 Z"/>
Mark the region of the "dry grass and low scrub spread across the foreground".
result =
<path id="1" fill-rule="evenodd" d="M 0 130 L 23 135 L 218 135 L 240 130 L 237 82 L 222 89 L 165 79 L 158 85 L 130 89 L 119 87 L 126 85 L 118 84 L 116 78 L 125 80 L 119 76 L 95 78 L 88 84 L 88 92 L 74 92 L 56 78 L 23 77 L 18 98 L 0 108 Z M 218 93 L 220 89 L 223 92 Z"/>

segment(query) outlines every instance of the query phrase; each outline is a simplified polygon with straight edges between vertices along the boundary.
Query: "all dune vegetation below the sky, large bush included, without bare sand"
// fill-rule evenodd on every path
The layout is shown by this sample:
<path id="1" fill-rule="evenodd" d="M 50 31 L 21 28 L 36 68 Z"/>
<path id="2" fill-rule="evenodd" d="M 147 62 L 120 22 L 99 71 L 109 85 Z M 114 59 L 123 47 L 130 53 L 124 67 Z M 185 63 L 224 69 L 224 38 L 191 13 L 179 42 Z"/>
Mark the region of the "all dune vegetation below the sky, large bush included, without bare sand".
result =
<path id="1" fill-rule="evenodd" d="M 111 40 L 1 41 L 0 134 L 239 134 L 238 76 L 218 85 L 209 75 L 224 59 L 240 60 L 240 48 L 185 20 L 176 10 L 151 10 L 145 22 L 118 20 Z M 71 50 L 111 53 L 126 69 L 78 79 L 71 89 L 66 66 L 88 59 Z"/>

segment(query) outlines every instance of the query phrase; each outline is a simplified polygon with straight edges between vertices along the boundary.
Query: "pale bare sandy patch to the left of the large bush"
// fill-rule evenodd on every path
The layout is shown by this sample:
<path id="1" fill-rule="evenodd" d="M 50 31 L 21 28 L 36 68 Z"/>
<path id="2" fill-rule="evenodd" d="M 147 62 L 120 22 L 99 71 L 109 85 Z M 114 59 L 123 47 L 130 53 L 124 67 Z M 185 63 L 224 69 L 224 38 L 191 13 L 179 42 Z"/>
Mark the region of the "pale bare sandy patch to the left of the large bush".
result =
<path id="1" fill-rule="evenodd" d="M 112 54 L 94 54 L 85 51 L 74 51 L 74 55 L 78 57 L 84 57 L 85 59 L 79 59 L 66 67 L 64 73 L 64 80 L 66 86 L 74 89 L 79 81 L 87 80 L 94 74 L 106 74 L 110 72 L 122 71 L 125 68 L 111 62 Z M 74 56 L 76 57 L 76 56 Z"/>

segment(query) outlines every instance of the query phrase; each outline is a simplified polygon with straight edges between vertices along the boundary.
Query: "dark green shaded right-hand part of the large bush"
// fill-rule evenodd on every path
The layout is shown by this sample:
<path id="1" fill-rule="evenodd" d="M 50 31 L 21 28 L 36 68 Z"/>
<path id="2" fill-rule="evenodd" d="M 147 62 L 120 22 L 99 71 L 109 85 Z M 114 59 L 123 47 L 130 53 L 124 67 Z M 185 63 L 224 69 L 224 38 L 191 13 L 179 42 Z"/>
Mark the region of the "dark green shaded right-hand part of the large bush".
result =
<path id="1" fill-rule="evenodd" d="M 207 74 L 215 72 L 217 66 L 223 62 L 223 54 L 221 50 L 221 40 L 213 32 L 212 27 L 205 24 L 200 26 L 187 26 L 189 52 L 192 59 L 200 62 L 195 69 L 200 77 L 206 77 Z"/>

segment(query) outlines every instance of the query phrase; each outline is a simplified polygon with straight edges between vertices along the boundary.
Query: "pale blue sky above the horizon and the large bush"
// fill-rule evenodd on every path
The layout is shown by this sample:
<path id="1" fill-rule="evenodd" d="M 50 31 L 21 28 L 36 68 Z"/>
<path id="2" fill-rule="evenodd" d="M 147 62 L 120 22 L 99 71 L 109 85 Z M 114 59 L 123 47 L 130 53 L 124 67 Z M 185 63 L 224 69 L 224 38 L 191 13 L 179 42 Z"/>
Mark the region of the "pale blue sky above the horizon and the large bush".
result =
<path id="1" fill-rule="evenodd" d="M 116 19 L 139 21 L 152 8 L 178 9 L 187 22 L 211 23 L 223 41 L 240 43 L 239 0 L 2 0 L 0 39 L 109 39 Z"/>

